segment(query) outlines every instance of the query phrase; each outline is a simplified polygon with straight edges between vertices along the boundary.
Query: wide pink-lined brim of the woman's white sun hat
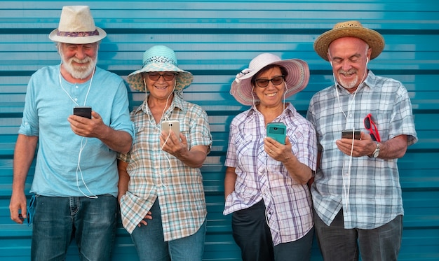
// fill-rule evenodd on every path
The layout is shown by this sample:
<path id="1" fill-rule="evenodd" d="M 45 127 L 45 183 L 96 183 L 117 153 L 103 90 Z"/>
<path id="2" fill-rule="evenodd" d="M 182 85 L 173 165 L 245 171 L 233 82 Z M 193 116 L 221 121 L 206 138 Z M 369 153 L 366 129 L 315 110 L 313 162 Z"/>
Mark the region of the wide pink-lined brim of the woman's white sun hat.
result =
<path id="1" fill-rule="evenodd" d="M 306 62 L 301 59 L 287 59 L 278 62 L 272 62 L 283 66 L 288 71 L 288 76 L 285 77 L 285 83 L 287 85 L 287 91 L 285 92 L 285 98 L 291 97 L 293 94 L 304 90 L 309 82 L 309 67 Z M 269 66 L 271 64 L 267 64 Z M 265 67 L 265 66 L 264 66 Z M 261 70 L 259 70 L 261 71 Z M 241 77 L 237 82 L 236 79 L 231 83 L 231 95 L 243 105 L 252 105 L 253 102 L 259 102 L 259 98 L 256 94 L 253 94 L 252 77 L 259 71 L 253 71 Z"/>

